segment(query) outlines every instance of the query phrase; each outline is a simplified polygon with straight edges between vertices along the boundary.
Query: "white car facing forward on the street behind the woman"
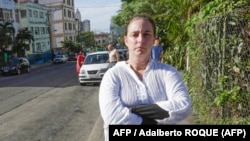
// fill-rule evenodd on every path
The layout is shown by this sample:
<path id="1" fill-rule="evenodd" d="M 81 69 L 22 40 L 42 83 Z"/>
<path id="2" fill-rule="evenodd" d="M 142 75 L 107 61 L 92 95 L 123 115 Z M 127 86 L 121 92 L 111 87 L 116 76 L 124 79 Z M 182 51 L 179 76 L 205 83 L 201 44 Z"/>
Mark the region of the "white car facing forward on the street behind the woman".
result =
<path id="1" fill-rule="evenodd" d="M 100 83 L 104 73 L 108 70 L 108 51 L 89 53 L 78 74 L 80 85 L 87 83 Z"/>

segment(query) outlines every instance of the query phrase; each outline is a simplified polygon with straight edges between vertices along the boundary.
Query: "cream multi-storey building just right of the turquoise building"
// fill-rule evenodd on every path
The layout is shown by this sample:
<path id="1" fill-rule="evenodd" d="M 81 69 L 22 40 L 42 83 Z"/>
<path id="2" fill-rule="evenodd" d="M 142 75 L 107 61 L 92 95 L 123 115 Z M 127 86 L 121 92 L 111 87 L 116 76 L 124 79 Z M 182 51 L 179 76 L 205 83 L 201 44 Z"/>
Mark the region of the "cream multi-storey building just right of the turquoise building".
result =
<path id="1" fill-rule="evenodd" d="M 37 0 L 49 8 L 51 46 L 55 53 L 62 49 L 65 39 L 76 41 L 74 0 Z"/>

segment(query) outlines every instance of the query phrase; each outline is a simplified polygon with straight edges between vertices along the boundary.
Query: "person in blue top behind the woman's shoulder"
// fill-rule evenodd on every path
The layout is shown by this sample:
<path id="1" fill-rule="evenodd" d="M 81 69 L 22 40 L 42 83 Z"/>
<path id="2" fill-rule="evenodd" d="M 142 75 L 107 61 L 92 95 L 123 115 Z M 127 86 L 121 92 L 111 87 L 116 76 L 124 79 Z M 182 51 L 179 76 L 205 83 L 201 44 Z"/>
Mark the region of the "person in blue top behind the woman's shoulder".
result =
<path id="1" fill-rule="evenodd" d="M 160 45 L 159 38 L 155 38 L 154 45 L 151 49 L 151 59 L 163 63 L 163 47 Z"/>

